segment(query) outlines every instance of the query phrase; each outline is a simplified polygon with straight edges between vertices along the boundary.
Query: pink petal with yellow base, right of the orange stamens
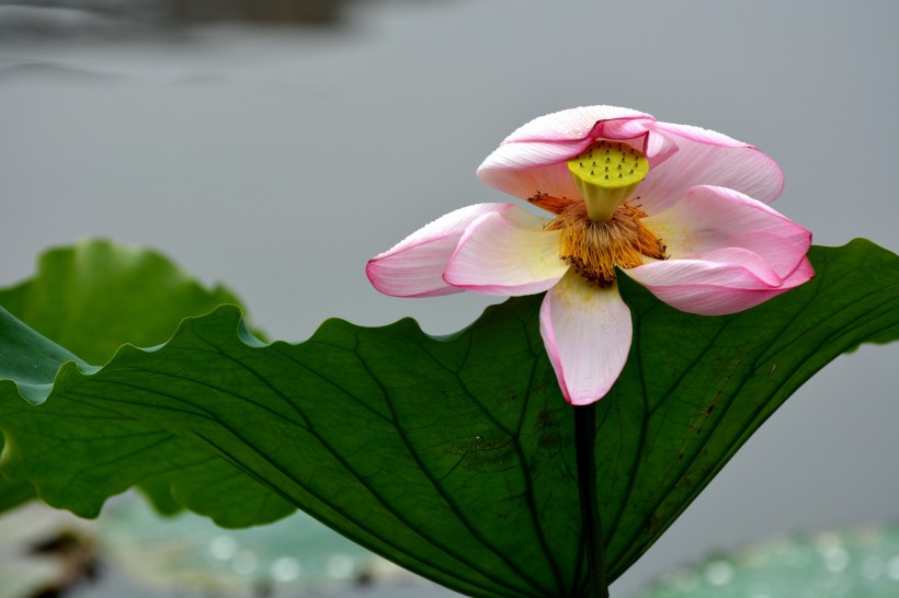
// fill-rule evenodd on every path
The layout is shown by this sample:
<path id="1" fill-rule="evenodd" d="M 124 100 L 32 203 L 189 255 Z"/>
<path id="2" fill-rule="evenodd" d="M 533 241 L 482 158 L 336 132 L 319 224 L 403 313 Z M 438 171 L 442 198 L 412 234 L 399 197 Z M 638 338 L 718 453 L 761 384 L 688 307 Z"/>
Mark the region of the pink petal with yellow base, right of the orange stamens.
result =
<path id="1" fill-rule="evenodd" d="M 778 277 L 792 273 L 811 246 L 811 233 L 769 206 L 733 189 L 691 188 L 669 210 L 644 223 L 675 260 L 706 258 L 725 248 L 761 256 Z"/>

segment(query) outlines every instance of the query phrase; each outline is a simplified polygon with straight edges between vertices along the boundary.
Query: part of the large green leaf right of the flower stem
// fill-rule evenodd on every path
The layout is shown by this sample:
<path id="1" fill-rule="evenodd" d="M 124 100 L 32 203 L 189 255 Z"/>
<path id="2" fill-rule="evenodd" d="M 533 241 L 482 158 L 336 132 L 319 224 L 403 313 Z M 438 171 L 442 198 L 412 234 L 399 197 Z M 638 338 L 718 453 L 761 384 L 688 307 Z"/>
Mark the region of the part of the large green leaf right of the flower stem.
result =
<path id="1" fill-rule="evenodd" d="M 896 254 L 856 239 L 809 258 L 815 279 L 720 318 L 679 312 L 623 280 L 639 341 L 600 402 L 596 444 L 612 578 L 815 372 L 862 343 L 899 340 Z"/>

